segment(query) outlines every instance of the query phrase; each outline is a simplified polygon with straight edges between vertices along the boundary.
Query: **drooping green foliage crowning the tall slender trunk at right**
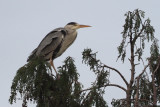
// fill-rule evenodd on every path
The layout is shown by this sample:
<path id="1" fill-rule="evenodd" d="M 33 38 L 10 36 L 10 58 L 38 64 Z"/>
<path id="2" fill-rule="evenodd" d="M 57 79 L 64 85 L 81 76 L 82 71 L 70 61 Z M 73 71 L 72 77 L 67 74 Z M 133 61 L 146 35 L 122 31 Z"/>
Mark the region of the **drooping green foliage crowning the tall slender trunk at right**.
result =
<path id="1" fill-rule="evenodd" d="M 136 9 L 133 12 L 127 12 L 125 14 L 125 24 L 123 26 L 122 32 L 122 42 L 118 47 L 119 56 L 121 60 L 124 62 L 124 59 L 127 54 L 127 46 L 128 44 L 132 44 L 136 46 L 135 55 L 138 56 L 138 61 L 142 58 L 144 48 L 145 48 L 145 40 L 153 41 L 154 40 L 154 28 L 150 25 L 150 19 L 146 19 L 143 21 L 145 14 L 142 10 Z M 137 40 L 139 38 L 139 41 Z M 139 46 L 135 44 L 135 42 L 139 42 Z M 135 47 L 131 47 L 135 48 Z"/>

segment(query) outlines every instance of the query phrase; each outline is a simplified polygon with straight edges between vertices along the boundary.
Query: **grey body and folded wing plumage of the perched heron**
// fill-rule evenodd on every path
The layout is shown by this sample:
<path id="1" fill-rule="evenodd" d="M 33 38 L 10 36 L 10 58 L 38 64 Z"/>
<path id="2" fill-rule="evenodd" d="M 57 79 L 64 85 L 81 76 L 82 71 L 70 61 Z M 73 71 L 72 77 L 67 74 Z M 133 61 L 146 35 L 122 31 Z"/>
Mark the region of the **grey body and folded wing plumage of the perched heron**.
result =
<path id="1" fill-rule="evenodd" d="M 73 37 L 73 40 L 67 40 L 70 41 L 68 43 L 69 45 L 71 45 L 74 42 L 77 35 L 74 36 L 75 37 Z M 57 28 L 51 31 L 40 42 L 39 46 L 35 50 L 33 50 L 27 61 L 30 61 L 35 56 L 43 57 L 45 60 L 49 60 L 51 56 L 53 59 L 57 58 L 69 47 L 68 44 L 67 45 L 65 44 L 66 47 L 64 45 L 64 40 L 66 38 L 68 39 L 69 37 L 68 37 L 68 32 L 64 28 Z M 62 45 L 65 48 L 63 48 L 63 50 L 61 49 L 62 52 L 57 54 L 60 51 Z"/>

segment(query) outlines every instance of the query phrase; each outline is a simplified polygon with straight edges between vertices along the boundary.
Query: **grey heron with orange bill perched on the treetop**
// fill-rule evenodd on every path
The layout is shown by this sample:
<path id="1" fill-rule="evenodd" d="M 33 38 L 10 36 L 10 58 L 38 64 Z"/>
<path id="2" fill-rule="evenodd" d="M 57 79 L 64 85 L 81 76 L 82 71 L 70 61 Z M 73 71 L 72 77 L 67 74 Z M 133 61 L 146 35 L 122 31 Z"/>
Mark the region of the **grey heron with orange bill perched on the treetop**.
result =
<path id="1" fill-rule="evenodd" d="M 50 62 L 57 75 L 53 60 L 62 55 L 75 41 L 77 37 L 77 29 L 84 27 L 91 26 L 70 22 L 65 27 L 54 29 L 48 33 L 40 42 L 38 47 L 32 51 L 31 55 L 27 59 L 27 62 L 36 56 L 43 57 L 46 61 Z"/>

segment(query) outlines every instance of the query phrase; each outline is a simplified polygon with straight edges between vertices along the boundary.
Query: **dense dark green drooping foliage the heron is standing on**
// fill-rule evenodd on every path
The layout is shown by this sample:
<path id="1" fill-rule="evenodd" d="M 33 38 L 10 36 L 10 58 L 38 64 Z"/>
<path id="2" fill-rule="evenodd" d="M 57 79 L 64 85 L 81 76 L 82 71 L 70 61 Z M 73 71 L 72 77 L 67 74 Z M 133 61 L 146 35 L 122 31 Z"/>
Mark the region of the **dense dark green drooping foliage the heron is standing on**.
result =
<path id="1" fill-rule="evenodd" d="M 13 79 L 9 102 L 16 102 L 17 93 L 20 93 L 23 107 L 27 106 L 28 101 L 36 102 L 37 107 L 107 107 L 103 99 L 104 92 L 97 89 L 96 85 L 87 93 L 82 90 L 71 57 L 67 57 L 64 65 L 59 67 L 58 78 L 50 72 L 50 65 L 40 58 L 21 67 Z M 99 85 L 102 84 L 100 82 L 98 81 Z"/>

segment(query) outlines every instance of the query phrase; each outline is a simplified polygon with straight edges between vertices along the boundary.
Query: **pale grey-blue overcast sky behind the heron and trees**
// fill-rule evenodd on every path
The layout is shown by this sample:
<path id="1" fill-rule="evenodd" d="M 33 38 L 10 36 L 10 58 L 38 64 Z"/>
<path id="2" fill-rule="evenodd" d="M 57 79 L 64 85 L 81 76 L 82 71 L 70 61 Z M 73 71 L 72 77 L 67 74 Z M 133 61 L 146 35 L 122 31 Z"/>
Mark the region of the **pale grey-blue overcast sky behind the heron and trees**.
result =
<path id="1" fill-rule="evenodd" d="M 121 42 L 124 14 L 135 9 L 145 11 L 145 18 L 160 39 L 159 0 L 0 0 L 0 106 L 21 107 L 22 101 L 10 105 L 10 86 L 17 69 L 26 64 L 26 59 L 43 37 L 68 22 L 91 25 L 79 29 L 74 44 L 55 62 L 61 66 L 67 56 L 72 56 L 80 73 L 84 88 L 95 80 L 94 74 L 82 64 L 81 52 L 91 48 L 105 64 L 119 69 L 129 80 L 129 64 L 116 62 L 117 46 Z M 111 82 L 124 85 L 118 75 L 111 72 Z M 125 93 L 117 88 L 107 88 L 105 99 L 123 98 Z M 29 107 L 35 107 L 29 103 Z"/>

